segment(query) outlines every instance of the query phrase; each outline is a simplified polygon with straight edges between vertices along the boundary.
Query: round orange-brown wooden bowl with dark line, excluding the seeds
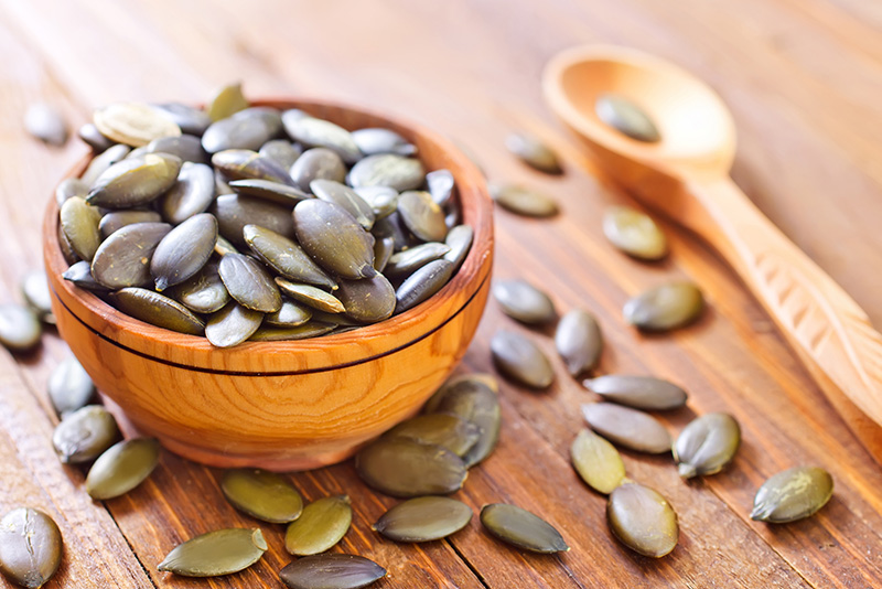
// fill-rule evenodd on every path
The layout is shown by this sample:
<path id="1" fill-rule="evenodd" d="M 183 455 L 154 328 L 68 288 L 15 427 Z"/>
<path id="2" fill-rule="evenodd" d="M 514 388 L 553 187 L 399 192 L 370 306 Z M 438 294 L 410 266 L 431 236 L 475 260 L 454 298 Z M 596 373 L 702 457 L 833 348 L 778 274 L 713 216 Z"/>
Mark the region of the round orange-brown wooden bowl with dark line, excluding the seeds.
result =
<path id="1" fill-rule="evenodd" d="M 394 129 L 419 148 L 427 169 L 449 169 L 463 222 L 475 232 L 451 281 L 374 325 L 218 349 L 126 315 L 64 280 L 54 197 L 43 224 L 43 255 L 61 335 L 99 390 L 144 435 L 206 464 L 310 469 L 344 460 L 416 414 L 465 354 L 490 290 L 493 204 L 477 168 L 418 125 L 320 101 L 255 104 L 301 108 L 348 129 Z M 88 160 L 68 175 L 79 175 Z"/>

